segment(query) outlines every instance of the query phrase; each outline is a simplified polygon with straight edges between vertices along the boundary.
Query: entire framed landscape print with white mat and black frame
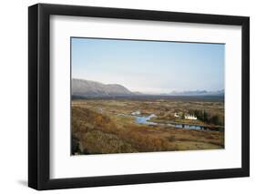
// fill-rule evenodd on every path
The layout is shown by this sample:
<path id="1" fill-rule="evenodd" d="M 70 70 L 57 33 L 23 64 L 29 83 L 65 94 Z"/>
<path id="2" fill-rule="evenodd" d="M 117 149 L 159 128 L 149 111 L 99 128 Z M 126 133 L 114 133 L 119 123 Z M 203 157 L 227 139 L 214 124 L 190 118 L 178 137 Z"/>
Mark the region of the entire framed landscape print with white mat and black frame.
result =
<path id="1" fill-rule="evenodd" d="M 250 19 L 28 8 L 28 185 L 250 174 Z"/>

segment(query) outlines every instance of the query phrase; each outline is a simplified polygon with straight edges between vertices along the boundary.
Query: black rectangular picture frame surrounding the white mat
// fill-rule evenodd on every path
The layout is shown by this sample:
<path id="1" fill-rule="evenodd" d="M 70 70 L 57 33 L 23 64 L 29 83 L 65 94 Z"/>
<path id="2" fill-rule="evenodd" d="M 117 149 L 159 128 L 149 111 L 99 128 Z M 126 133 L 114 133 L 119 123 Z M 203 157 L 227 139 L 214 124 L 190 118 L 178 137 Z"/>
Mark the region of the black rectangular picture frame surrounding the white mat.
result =
<path id="1" fill-rule="evenodd" d="M 242 124 L 241 168 L 205 169 L 118 176 L 50 179 L 50 15 L 241 26 Z M 250 176 L 250 18 L 78 5 L 37 4 L 28 7 L 28 186 L 69 189 L 111 185 Z"/>

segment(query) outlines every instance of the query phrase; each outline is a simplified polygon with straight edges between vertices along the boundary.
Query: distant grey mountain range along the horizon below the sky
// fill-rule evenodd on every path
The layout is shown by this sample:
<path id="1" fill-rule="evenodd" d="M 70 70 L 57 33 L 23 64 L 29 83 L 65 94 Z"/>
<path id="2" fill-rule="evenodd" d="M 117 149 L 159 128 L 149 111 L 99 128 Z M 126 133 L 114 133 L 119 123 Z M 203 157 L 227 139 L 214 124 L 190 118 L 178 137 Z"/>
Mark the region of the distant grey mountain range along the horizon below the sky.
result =
<path id="1" fill-rule="evenodd" d="M 140 92 L 131 92 L 128 88 L 118 84 L 102 84 L 85 79 L 72 79 L 72 96 L 77 97 L 126 97 L 126 96 L 150 96 Z M 152 96 L 152 95 L 151 95 Z M 155 95 L 158 96 L 158 95 Z M 224 96 L 224 90 L 207 91 L 173 91 L 159 96 Z"/>

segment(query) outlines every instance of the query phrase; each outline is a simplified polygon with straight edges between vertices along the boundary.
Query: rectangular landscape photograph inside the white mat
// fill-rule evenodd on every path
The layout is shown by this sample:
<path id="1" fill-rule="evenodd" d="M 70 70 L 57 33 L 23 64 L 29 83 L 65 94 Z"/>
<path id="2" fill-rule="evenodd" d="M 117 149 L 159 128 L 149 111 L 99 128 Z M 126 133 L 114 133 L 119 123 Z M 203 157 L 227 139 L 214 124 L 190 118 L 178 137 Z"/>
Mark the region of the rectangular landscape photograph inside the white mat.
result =
<path id="1" fill-rule="evenodd" d="M 225 148 L 225 45 L 71 37 L 71 156 Z"/>

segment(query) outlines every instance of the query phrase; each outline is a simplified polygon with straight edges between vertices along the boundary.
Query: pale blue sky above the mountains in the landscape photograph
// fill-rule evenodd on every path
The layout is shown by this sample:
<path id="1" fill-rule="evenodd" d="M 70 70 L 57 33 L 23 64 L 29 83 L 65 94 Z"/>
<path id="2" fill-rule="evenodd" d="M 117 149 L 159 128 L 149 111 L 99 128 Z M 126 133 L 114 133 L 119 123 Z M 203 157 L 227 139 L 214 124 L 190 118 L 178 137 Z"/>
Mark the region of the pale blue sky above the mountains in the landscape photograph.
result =
<path id="1" fill-rule="evenodd" d="M 224 88 L 223 44 L 71 38 L 72 77 L 131 91 Z"/>

